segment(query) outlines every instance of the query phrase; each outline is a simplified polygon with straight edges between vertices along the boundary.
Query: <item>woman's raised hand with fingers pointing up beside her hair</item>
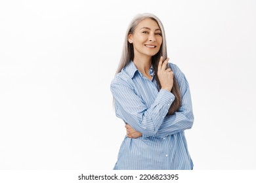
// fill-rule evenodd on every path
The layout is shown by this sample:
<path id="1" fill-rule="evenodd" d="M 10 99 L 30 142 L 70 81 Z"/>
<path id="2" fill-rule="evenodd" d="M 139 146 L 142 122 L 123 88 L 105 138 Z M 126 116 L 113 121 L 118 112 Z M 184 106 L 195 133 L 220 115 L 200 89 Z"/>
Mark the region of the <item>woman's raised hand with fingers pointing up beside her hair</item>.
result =
<path id="1" fill-rule="evenodd" d="M 163 61 L 163 56 L 161 56 L 158 63 L 158 78 L 161 84 L 161 89 L 168 90 L 171 92 L 173 88 L 173 71 L 170 68 L 167 68 L 169 58 Z"/>

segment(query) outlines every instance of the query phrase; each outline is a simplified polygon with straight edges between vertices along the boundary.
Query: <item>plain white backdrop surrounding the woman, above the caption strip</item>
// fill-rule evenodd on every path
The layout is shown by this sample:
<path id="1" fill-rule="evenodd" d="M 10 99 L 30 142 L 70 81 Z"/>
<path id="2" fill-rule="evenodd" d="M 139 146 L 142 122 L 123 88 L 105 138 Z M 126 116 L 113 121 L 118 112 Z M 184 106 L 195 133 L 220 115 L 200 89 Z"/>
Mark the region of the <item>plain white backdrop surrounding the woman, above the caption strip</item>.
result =
<path id="1" fill-rule="evenodd" d="M 1 1 L 0 169 L 112 169 L 110 82 L 138 13 L 186 75 L 194 169 L 256 169 L 256 1 Z"/>

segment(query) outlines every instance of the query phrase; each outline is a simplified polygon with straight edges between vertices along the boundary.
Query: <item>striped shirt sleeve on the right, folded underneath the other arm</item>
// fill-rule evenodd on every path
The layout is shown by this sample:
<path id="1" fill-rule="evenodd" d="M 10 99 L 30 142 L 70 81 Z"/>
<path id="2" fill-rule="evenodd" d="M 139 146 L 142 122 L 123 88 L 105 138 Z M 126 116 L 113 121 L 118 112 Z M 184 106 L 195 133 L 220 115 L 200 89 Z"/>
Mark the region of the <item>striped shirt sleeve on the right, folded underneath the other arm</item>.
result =
<path id="1" fill-rule="evenodd" d="M 194 114 L 192 112 L 192 101 L 190 96 L 190 89 L 186 77 L 181 73 L 180 80 L 182 105 L 179 111 L 173 115 L 165 116 L 155 137 L 163 138 L 167 135 L 190 129 L 194 122 Z"/>

